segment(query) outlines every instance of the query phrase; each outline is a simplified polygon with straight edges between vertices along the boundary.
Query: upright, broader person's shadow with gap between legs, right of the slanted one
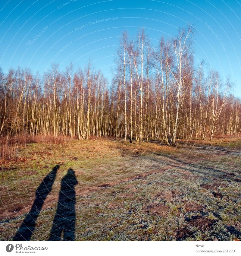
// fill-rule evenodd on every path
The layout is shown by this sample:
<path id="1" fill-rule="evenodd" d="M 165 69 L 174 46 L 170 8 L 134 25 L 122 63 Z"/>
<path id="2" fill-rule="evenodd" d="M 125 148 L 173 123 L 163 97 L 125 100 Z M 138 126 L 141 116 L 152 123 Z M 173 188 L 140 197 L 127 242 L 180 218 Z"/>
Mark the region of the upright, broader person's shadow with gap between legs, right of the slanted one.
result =
<path id="1" fill-rule="evenodd" d="M 77 184 L 74 170 L 69 169 L 61 180 L 58 206 L 49 241 L 74 241 L 76 221 L 74 186 Z M 61 239 L 62 233 L 63 239 Z"/>

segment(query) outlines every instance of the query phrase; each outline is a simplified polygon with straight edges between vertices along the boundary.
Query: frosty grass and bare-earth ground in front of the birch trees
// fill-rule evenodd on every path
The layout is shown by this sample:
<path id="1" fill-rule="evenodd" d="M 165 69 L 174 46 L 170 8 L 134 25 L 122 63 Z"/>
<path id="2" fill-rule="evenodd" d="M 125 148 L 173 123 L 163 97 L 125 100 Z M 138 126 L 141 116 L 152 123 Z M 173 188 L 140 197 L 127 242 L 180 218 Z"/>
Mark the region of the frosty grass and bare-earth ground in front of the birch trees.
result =
<path id="1" fill-rule="evenodd" d="M 240 153 L 239 138 L 181 140 L 175 147 L 114 139 L 19 146 L 16 159 L 1 160 L 0 240 L 14 239 L 27 223 L 36 191 L 59 165 L 35 210 L 33 241 L 52 240 L 63 216 L 75 224 L 67 240 L 239 241 Z"/>

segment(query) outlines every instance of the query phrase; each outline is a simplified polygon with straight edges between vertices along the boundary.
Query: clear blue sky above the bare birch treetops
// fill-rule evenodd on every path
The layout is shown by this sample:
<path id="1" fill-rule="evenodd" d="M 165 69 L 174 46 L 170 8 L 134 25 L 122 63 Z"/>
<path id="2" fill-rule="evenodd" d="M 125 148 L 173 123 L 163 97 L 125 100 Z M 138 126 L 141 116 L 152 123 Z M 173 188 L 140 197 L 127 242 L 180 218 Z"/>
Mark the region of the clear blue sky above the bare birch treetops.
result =
<path id="1" fill-rule="evenodd" d="M 188 24 L 196 28 L 196 61 L 203 59 L 224 78 L 230 74 L 233 93 L 241 97 L 240 0 L 2 0 L 0 67 L 42 73 L 52 62 L 78 68 L 90 58 L 111 76 L 122 31 L 135 36 L 144 27 L 155 46 Z"/>

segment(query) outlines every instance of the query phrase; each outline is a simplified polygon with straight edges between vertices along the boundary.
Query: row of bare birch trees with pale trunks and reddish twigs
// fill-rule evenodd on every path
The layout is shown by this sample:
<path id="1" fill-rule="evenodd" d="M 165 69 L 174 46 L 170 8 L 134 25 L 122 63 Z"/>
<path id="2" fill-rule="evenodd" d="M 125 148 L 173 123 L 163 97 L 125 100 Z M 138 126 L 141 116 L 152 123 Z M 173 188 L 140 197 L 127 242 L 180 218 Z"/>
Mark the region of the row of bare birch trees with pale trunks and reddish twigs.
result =
<path id="1" fill-rule="evenodd" d="M 144 30 L 124 32 L 111 83 L 91 62 L 42 75 L 0 71 L 0 136 L 121 137 L 126 140 L 240 136 L 241 101 L 232 83 L 194 62 L 193 29 L 152 47 Z"/>

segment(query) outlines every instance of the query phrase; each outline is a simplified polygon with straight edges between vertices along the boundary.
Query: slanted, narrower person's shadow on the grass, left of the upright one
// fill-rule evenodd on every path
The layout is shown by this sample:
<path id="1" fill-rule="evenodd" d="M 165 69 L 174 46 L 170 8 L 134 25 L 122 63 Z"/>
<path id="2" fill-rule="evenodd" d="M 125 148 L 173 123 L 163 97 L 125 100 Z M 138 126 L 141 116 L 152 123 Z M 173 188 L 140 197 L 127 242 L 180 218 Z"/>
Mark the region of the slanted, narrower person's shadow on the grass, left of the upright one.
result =
<path id="1" fill-rule="evenodd" d="M 23 220 L 23 223 L 15 234 L 13 241 L 30 241 L 36 226 L 36 220 L 39 216 L 47 195 L 52 190 L 58 169 L 59 165 L 56 165 L 37 188 L 32 208 Z"/>

